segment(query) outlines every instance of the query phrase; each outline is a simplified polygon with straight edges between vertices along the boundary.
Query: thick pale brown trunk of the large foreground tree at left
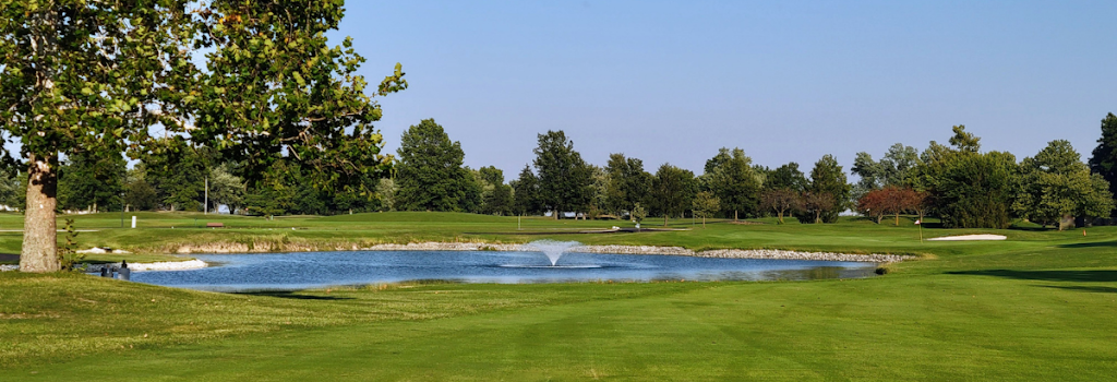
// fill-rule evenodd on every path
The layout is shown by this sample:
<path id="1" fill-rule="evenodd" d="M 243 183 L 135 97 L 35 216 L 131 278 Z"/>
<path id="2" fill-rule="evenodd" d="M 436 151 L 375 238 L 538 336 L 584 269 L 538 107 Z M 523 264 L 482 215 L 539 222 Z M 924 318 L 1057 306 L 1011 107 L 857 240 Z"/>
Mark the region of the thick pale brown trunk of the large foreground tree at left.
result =
<path id="1" fill-rule="evenodd" d="M 23 212 L 23 249 L 19 255 L 20 271 L 58 271 L 57 226 L 58 174 L 51 165 L 55 156 L 31 154 L 27 182 L 27 208 Z"/>

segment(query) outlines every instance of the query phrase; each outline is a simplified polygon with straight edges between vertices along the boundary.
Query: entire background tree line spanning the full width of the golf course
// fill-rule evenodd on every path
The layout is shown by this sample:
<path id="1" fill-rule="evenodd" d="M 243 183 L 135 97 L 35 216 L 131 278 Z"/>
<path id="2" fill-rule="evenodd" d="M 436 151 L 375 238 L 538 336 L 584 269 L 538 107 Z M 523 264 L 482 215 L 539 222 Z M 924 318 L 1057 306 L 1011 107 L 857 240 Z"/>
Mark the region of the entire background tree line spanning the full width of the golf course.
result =
<path id="1" fill-rule="evenodd" d="M 1110 114 L 1102 131 L 1115 126 L 1117 118 Z M 314 188 L 304 178 L 305 170 L 287 161 L 274 163 L 258 181 L 246 182 L 235 175 L 236 162 L 222 162 L 204 149 L 147 155 L 132 169 L 120 156 L 75 154 L 58 170 L 58 209 L 216 211 L 226 206 L 235 213 L 266 216 L 407 210 L 551 212 L 555 218 L 574 211 L 589 218 L 628 218 L 641 206 L 645 212 L 662 217 L 665 225 L 687 212 L 735 219 L 774 216 L 781 223 L 785 217 L 833 222 L 839 212 L 853 209 L 878 222 L 884 216 L 898 225 L 903 213 L 920 218 L 933 213 L 947 227 L 974 228 L 1008 227 L 1012 218 L 1066 225 L 1069 217 L 1107 217 L 1114 209 L 1111 182 L 1090 171 L 1090 166 L 1113 168 L 1113 162 L 1100 160 L 1108 147 L 1106 137 L 1099 140 L 1102 144 L 1090 165 L 1067 141 L 1050 142 L 1018 163 L 1009 153 L 981 152 L 980 139 L 965 126 L 953 130 L 949 145 L 932 142 L 923 153 L 903 144 L 889 147 L 879 161 L 858 153 L 852 168 L 860 176 L 856 184 L 847 182 L 831 155 L 814 163 L 808 175 L 798 163 L 776 169 L 753 164 L 739 149 L 719 150 L 697 176 L 669 163 L 650 173 L 642 161 L 620 153 L 611 154 L 602 168 L 586 163 L 562 131 L 552 131 L 538 135 L 535 161 L 506 184 L 499 169 L 465 166 L 460 144 L 433 120 L 424 120 L 401 137 L 390 178 L 363 180 L 364 189 L 371 190 L 365 193 Z M 23 180 L 26 174 L 6 174 L 0 201 L 21 207 Z M 705 200 L 697 200 L 700 193 Z"/>

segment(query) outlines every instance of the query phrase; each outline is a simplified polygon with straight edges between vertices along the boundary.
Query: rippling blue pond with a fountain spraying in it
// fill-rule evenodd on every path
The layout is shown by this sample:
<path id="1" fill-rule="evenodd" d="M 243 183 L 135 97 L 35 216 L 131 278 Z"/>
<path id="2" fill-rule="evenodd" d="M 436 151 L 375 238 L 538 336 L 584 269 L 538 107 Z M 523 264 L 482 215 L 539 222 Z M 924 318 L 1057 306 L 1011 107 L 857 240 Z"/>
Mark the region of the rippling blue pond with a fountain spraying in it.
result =
<path id="1" fill-rule="evenodd" d="M 584 283 L 803 280 L 871 276 L 872 262 L 720 259 L 663 255 L 564 254 L 557 266 L 535 251 L 336 251 L 199 255 L 211 267 L 139 271 L 132 280 L 214 292 L 293 290 L 410 280 Z"/>

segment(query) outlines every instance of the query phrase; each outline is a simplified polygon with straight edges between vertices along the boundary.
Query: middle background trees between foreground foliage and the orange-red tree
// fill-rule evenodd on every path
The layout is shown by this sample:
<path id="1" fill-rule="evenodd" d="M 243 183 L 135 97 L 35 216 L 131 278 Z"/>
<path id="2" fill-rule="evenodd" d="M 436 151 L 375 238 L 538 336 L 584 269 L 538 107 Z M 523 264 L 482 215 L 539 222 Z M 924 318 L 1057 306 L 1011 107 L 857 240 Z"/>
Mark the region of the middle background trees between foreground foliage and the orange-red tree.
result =
<path id="1" fill-rule="evenodd" d="M 699 192 L 709 193 L 722 216 L 742 218 L 765 213 L 761 192 L 767 189 L 814 195 L 813 221 L 834 221 L 846 207 L 850 187 L 841 166 L 830 155 L 820 160 L 811 178 L 796 163 L 776 170 L 754 165 L 741 149 L 722 149 L 707 161 L 706 171 L 691 171 L 669 163 L 655 173 L 643 162 L 615 153 L 605 166 L 586 163 L 562 131 L 538 135 L 535 160 L 518 178 L 504 183 L 495 168 L 474 171 L 462 165 L 464 152 L 433 120 L 422 121 L 403 133 L 394 180 L 399 185 L 393 207 L 411 211 L 469 211 L 496 214 L 565 212 L 580 217 L 629 217 L 637 207 L 660 216 L 665 225 L 695 209 Z M 771 179 L 771 180 L 770 180 Z M 706 203 L 704 206 L 714 206 Z"/>

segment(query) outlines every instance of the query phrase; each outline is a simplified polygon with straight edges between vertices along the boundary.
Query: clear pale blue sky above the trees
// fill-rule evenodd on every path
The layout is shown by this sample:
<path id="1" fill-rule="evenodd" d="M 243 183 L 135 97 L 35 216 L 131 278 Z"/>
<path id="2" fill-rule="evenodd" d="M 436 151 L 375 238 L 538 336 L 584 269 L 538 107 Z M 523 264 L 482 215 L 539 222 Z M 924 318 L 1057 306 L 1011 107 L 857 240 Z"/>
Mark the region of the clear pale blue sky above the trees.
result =
<path id="1" fill-rule="evenodd" d="M 718 147 L 771 168 L 920 151 L 965 124 L 1023 159 L 1083 161 L 1117 113 L 1117 1 L 349 1 L 386 151 L 435 118 L 466 164 L 514 179 L 536 134 L 701 172 Z M 340 40 L 338 40 L 340 42 Z"/>

